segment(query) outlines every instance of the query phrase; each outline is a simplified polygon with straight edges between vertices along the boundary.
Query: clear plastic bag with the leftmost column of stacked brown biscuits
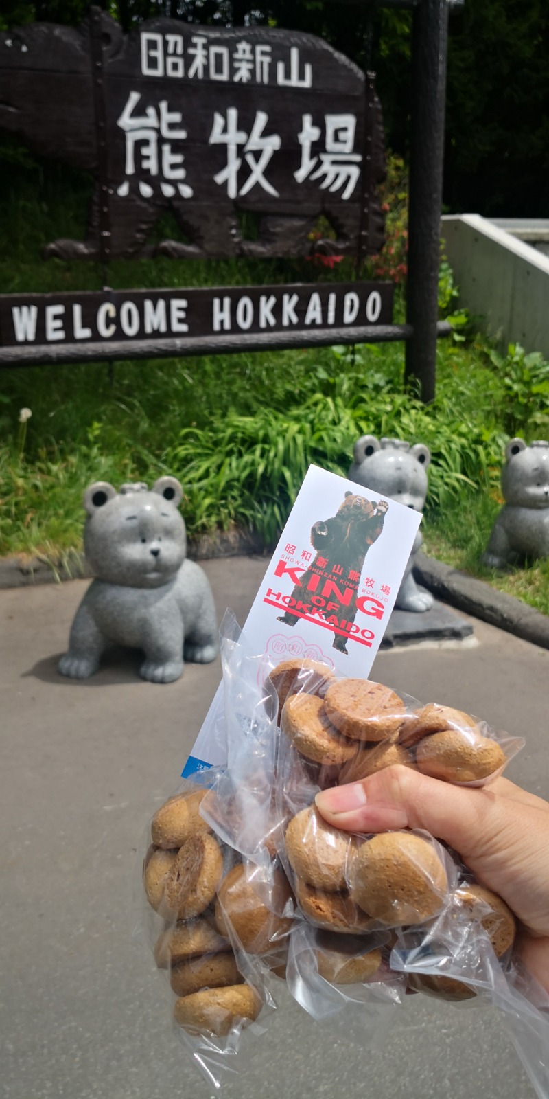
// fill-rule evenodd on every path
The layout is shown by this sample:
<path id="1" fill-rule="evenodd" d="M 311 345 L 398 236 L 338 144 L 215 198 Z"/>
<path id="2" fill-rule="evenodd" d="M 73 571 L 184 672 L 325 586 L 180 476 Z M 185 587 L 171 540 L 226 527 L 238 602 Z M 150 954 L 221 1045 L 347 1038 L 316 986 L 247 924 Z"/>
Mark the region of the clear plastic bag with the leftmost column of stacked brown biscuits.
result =
<path id="1" fill-rule="evenodd" d="M 200 814 L 205 782 L 214 777 L 205 771 L 198 781 L 183 780 L 150 822 L 143 925 L 170 986 L 175 1031 L 219 1087 L 233 1076 L 243 1042 L 265 1033 L 273 1003 L 261 967 L 238 951 L 220 920 L 219 892 L 239 856 Z"/>

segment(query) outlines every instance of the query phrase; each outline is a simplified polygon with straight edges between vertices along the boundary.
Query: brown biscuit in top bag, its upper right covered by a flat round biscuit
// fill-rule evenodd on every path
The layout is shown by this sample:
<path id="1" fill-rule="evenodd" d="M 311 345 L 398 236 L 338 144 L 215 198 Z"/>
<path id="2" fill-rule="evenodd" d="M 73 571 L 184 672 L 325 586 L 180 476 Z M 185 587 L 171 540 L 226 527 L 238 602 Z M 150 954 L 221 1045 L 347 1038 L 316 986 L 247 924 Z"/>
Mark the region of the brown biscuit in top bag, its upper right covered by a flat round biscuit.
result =
<path id="1" fill-rule="evenodd" d="M 296 752 L 313 763 L 343 764 L 352 759 L 357 743 L 338 733 L 317 695 L 292 695 L 280 720 Z"/>

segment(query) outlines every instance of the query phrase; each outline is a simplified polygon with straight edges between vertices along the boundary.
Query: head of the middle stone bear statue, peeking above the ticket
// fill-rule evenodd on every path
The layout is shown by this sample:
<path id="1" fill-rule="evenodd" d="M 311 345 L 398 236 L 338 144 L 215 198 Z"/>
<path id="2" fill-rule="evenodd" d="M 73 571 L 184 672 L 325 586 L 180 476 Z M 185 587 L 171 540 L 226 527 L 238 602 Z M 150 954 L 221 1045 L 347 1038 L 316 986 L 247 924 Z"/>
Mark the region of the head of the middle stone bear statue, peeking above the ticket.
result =
<path id="1" fill-rule="evenodd" d="M 406 508 L 423 511 L 427 496 L 427 466 L 430 452 L 423 443 L 411 446 L 402 439 L 362 435 L 355 443 L 355 460 L 349 480 L 382 492 Z"/>

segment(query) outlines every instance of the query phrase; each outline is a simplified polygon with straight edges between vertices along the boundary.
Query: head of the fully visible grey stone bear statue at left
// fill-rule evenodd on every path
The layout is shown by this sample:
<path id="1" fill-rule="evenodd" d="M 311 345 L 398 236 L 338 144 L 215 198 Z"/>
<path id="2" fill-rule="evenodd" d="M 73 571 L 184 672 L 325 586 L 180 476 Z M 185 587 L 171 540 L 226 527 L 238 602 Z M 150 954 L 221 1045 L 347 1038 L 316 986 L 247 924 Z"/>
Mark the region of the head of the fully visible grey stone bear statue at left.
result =
<path id="1" fill-rule="evenodd" d="M 160 477 L 150 491 L 143 482 L 107 481 L 86 489 L 88 513 L 83 548 L 99 580 L 131 588 L 158 588 L 176 575 L 187 552 L 187 531 L 178 510 L 182 489 L 175 477 Z"/>

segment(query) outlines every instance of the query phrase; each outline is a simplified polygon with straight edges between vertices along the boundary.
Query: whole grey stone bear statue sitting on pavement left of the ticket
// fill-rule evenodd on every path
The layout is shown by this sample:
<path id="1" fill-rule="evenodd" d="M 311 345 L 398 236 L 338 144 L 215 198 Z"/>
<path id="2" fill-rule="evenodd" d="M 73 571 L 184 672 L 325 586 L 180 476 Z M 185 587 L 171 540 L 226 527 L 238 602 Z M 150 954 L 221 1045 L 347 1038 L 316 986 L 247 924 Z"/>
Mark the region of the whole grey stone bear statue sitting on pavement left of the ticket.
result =
<path id="1" fill-rule="evenodd" d="M 144 484 L 107 481 L 86 490 L 83 532 L 96 579 L 70 630 L 58 671 L 87 679 L 111 643 L 141 648 L 139 674 L 150 682 L 179 679 L 187 662 L 208 664 L 217 653 L 217 622 L 209 581 L 187 553 L 187 531 L 175 477 Z"/>

